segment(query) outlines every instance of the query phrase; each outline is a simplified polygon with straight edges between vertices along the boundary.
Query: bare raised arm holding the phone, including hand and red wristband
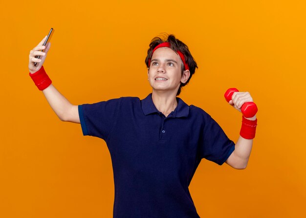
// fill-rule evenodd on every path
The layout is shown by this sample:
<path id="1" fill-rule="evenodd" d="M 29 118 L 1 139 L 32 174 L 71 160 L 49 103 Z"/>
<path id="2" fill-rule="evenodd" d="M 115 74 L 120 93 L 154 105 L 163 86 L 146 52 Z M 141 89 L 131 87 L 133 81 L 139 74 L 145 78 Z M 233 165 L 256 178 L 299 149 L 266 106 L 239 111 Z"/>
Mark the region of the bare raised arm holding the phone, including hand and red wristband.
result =
<path id="1" fill-rule="evenodd" d="M 46 37 L 44 37 L 44 39 L 30 51 L 30 76 L 32 79 L 34 78 L 33 80 L 36 79 L 36 85 L 43 91 L 45 98 L 59 119 L 62 121 L 80 123 L 78 106 L 71 104 L 52 84 L 49 84 L 51 81 L 48 80 L 44 67 L 42 66 L 50 49 L 51 43 L 49 42 L 47 48 L 45 48 L 45 46 L 43 46 L 45 39 Z M 41 52 L 41 50 L 44 50 L 44 52 Z M 36 58 L 36 56 L 39 55 L 41 56 L 41 59 Z M 37 62 L 36 66 L 34 65 L 35 62 Z"/>

